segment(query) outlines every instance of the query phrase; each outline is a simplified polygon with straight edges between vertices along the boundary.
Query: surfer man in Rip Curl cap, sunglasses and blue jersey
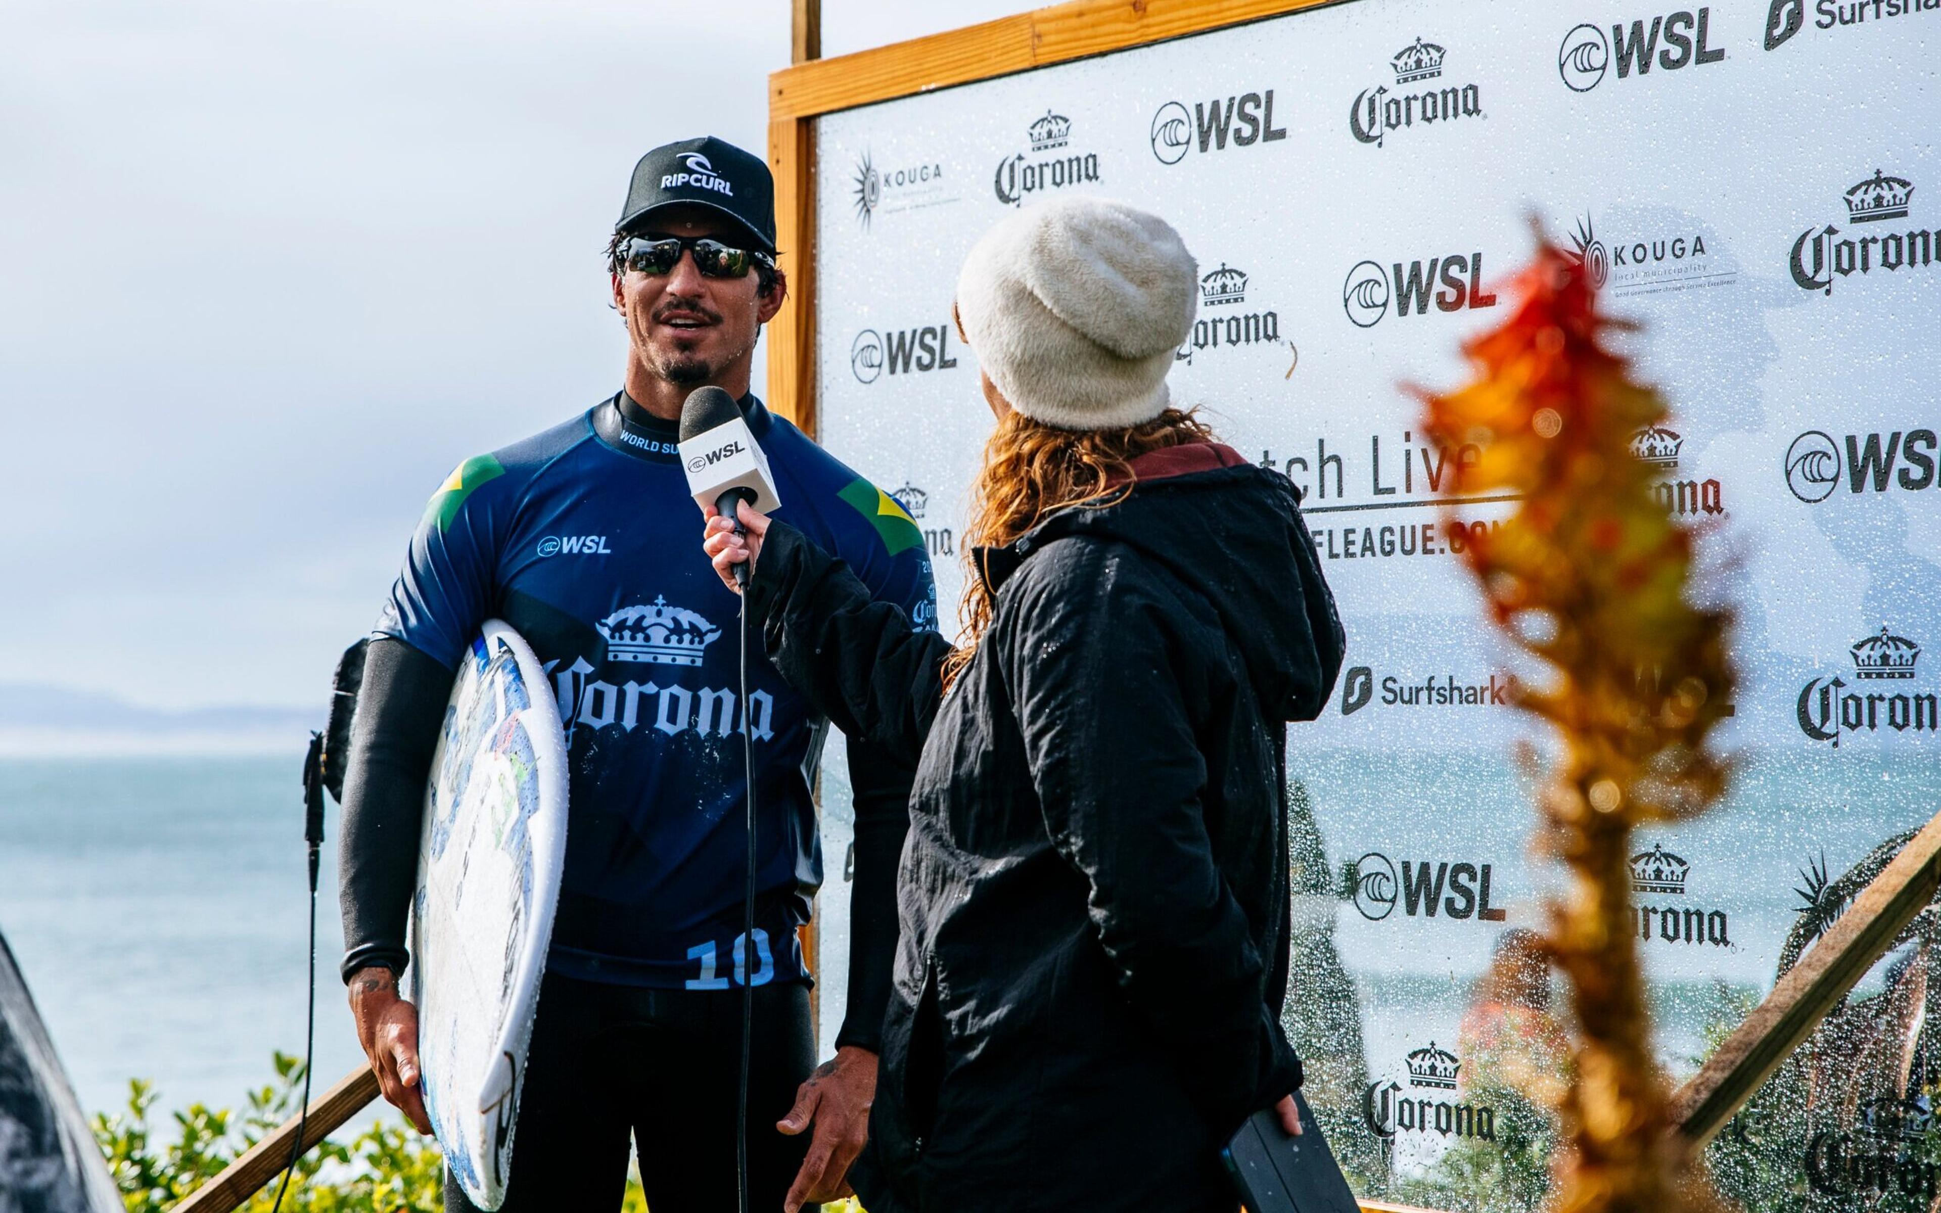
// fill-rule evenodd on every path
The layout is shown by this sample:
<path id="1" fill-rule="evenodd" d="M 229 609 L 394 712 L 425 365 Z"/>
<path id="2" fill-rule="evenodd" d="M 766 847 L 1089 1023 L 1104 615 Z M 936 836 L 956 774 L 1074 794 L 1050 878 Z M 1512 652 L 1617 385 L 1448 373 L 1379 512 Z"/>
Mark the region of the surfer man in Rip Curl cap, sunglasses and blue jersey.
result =
<path id="1" fill-rule="evenodd" d="M 782 307 L 774 184 L 722 140 L 648 151 L 608 246 L 625 386 L 563 425 L 464 460 L 433 495 L 378 615 L 345 778 L 351 1013 L 384 1097 L 429 1131 L 417 1011 L 398 976 L 421 802 L 452 672 L 485 619 L 555 679 L 569 739 L 565 885 L 512 1133 L 507 1203 L 619 1209 L 629 1139 L 654 1213 L 732 1209 L 741 984 L 755 986 L 751 1205 L 848 1194 L 875 1093 L 912 770 L 848 747 L 856 802 L 848 1011 L 813 1069 L 796 928 L 821 881 L 811 778 L 823 722 L 757 650 L 740 699 L 738 600 L 693 543 L 681 404 L 728 390 L 782 508 L 918 627 L 924 536 L 875 485 L 749 394 Z M 757 763 L 757 930 L 741 937 L 741 738 Z M 439 1025 L 423 1025 L 439 1031 Z M 470 1211 L 446 1182 L 446 1209 Z"/>

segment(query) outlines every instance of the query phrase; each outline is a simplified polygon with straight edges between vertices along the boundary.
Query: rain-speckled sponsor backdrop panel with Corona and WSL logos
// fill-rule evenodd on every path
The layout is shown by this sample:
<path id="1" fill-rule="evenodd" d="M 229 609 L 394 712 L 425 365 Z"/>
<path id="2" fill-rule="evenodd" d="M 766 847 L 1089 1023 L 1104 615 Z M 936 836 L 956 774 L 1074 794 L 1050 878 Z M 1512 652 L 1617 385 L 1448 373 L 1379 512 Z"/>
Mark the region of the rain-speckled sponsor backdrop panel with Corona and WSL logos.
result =
<path id="1" fill-rule="evenodd" d="M 951 322 L 965 252 L 1091 192 L 1200 260 L 1174 398 L 1306 493 L 1349 631 L 1289 741 L 1287 1023 L 1365 1192 L 1518 1207 L 1547 1149 L 1504 1075 L 1541 1056 L 1549 996 L 1479 988 L 1555 873 L 1530 856 L 1506 654 L 1436 526 L 1477 452 L 1425 439 L 1405 390 L 1462 382 L 1533 219 L 1642 324 L 1625 342 L 1673 419 L 1636 452 L 1741 613 L 1735 792 L 1644 831 L 1632 866 L 1667 1069 L 1772 988 L 1828 881 L 1941 809 L 1937 45 L 1941 0 L 1357 0 L 819 122 L 821 439 L 924 530 L 945 631 L 992 425 Z M 825 792 L 827 1040 L 848 811 Z"/>

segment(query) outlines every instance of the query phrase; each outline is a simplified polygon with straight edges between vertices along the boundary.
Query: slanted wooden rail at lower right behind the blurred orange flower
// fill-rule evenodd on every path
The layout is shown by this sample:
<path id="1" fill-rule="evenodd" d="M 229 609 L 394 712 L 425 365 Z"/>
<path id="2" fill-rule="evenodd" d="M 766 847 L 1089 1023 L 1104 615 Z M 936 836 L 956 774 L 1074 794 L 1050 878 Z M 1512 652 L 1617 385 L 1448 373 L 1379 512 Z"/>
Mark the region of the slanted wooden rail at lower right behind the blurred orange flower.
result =
<path id="1" fill-rule="evenodd" d="M 1718 1133 L 1753 1098 L 1786 1054 L 1799 1048 L 1854 982 L 1941 887 L 1941 815 L 1914 835 L 1813 949 L 1778 980 L 1766 1001 L 1671 1095 L 1671 1116 L 1694 1145 Z"/>

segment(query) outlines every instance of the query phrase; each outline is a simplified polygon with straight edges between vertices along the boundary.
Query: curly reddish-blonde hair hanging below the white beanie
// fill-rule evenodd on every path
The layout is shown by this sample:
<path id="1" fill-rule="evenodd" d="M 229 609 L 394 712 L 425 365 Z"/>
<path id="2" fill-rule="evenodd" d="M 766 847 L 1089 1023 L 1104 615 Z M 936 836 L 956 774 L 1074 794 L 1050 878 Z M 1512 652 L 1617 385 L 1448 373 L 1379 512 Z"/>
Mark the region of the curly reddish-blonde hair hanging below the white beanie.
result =
<path id="1" fill-rule="evenodd" d="M 1124 429 L 1058 429 L 1017 410 L 1007 411 L 984 443 L 984 466 L 970 485 L 963 631 L 957 648 L 943 660 L 943 689 L 949 691 L 976 656 L 998 606 L 978 569 L 978 549 L 1013 543 L 1073 505 L 1116 505 L 1135 483 L 1132 460 L 1167 446 L 1211 441 L 1213 429 L 1198 410 L 1168 408 Z"/>

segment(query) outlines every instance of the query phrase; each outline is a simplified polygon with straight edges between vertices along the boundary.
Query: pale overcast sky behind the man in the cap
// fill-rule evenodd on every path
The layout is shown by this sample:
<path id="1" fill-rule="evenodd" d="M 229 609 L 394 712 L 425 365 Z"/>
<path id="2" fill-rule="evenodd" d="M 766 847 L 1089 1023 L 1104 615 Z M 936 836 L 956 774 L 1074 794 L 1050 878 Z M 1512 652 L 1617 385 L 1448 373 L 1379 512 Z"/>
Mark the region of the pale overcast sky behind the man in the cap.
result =
<path id="1" fill-rule="evenodd" d="M 615 388 L 633 161 L 763 153 L 788 8 L 8 4 L 0 683 L 320 705 L 444 474 Z M 825 0 L 823 45 L 1025 8 Z"/>

